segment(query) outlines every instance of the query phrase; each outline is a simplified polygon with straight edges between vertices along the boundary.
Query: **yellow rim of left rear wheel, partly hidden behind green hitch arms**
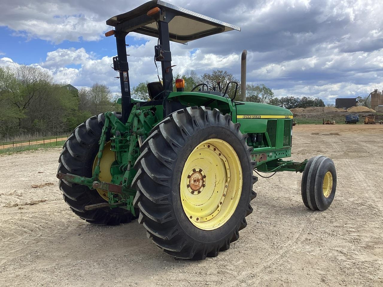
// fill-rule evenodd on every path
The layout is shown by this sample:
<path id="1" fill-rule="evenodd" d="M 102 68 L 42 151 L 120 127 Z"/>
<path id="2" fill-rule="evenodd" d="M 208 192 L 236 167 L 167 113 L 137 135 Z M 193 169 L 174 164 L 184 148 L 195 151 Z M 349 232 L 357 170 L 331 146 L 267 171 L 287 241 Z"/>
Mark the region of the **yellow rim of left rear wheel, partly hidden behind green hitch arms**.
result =
<path id="1" fill-rule="evenodd" d="M 99 181 L 105 181 L 107 183 L 110 183 L 112 181 L 112 175 L 110 173 L 110 167 L 112 163 L 116 160 L 115 152 L 110 150 L 110 141 L 105 143 L 104 150 L 102 152 L 102 157 L 100 160 L 100 174 L 98 175 Z M 97 165 L 97 155 L 93 161 L 93 171 L 95 170 L 95 167 Z M 109 201 L 108 192 L 102 191 L 101 189 L 97 189 L 98 194 L 105 199 L 106 201 Z"/>

